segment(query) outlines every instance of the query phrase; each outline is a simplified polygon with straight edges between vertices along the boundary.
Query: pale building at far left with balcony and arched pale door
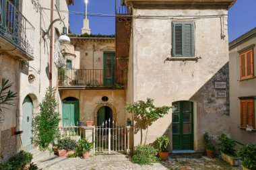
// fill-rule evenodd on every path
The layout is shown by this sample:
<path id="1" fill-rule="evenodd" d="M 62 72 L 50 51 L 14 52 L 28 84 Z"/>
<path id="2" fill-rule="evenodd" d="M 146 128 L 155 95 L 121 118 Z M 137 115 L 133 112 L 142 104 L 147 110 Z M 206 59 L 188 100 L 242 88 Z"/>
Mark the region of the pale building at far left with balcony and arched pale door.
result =
<path id="1" fill-rule="evenodd" d="M 68 26 L 68 13 L 59 13 L 58 10 L 68 11 L 71 3 L 73 0 L 54 1 L 53 19 L 65 18 L 63 22 Z M 51 54 L 52 85 L 57 84 L 55 64 L 62 58 L 57 40 L 63 24 L 53 25 L 51 44 L 48 36 L 42 38 L 42 30 L 48 30 L 51 23 L 50 1 L 4 0 L 0 7 L 0 79 L 9 79 L 13 83 L 11 90 L 18 93 L 15 105 L 3 110 L 0 118 L 0 153 L 6 161 L 21 149 L 32 149 L 31 123 L 38 114 L 38 103 L 49 87 Z"/>

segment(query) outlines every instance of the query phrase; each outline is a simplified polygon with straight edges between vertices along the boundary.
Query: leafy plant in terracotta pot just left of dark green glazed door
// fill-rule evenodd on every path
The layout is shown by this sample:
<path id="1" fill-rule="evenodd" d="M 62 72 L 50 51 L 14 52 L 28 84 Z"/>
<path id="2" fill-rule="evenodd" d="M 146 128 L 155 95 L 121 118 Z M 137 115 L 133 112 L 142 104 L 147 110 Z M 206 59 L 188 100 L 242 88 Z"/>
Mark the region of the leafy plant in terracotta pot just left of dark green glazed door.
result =
<path id="1" fill-rule="evenodd" d="M 156 146 L 159 157 L 163 161 L 168 160 L 169 152 L 168 152 L 168 145 L 169 145 L 170 139 L 167 136 L 161 136 L 160 138 L 157 138 L 154 142 L 154 145 Z"/>

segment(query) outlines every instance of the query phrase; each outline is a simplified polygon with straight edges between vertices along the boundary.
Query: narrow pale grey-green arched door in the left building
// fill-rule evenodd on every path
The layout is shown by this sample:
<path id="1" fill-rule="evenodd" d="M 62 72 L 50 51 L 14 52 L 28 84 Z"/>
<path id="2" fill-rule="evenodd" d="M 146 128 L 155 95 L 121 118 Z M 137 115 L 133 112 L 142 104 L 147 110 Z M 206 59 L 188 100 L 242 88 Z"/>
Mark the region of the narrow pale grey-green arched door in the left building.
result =
<path id="1" fill-rule="evenodd" d="M 26 96 L 22 103 L 22 149 L 32 150 L 32 114 L 33 103 L 29 96 Z"/>

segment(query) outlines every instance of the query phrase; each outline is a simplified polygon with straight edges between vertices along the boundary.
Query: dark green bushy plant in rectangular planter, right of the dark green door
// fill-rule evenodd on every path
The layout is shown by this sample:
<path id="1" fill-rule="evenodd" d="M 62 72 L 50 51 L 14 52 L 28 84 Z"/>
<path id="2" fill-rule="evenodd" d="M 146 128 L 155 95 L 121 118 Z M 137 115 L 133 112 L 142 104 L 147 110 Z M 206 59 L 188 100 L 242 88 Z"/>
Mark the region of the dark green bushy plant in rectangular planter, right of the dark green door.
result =
<path id="1" fill-rule="evenodd" d="M 220 141 L 220 143 L 218 143 L 217 146 L 222 153 L 230 156 L 236 156 L 236 151 L 234 150 L 236 142 L 234 142 L 234 140 L 228 138 L 226 134 L 220 134 L 220 136 L 218 136 L 218 140 Z"/>

